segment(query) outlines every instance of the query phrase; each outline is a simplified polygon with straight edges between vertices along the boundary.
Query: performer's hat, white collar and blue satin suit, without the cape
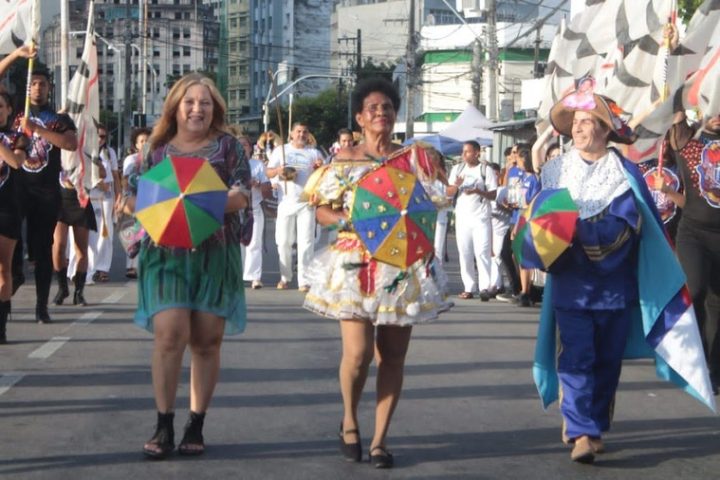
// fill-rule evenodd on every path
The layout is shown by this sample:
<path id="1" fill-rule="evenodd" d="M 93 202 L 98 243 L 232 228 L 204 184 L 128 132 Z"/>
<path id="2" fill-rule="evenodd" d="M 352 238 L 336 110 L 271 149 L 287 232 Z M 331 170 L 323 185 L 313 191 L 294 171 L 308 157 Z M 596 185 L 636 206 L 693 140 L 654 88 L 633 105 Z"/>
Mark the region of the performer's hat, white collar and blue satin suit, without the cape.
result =
<path id="1" fill-rule="evenodd" d="M 602 452 L 630 324 L 638 302 L 637 247 L 641 222 L 623 159 L 608 142 L 631 143 L 612 100 L 570 94 L 550 112 L 573 148 L 542 169 L 543 189 L 566 188 L 580 218 L 569 249 L 552 265 L 549 300 L 557 322 L 563 440 L 571 459 L 591 463 Z M 643 185 L 645 187 L 645 185 Z M 645 187 L 647 188 L 647 187 Z"/>

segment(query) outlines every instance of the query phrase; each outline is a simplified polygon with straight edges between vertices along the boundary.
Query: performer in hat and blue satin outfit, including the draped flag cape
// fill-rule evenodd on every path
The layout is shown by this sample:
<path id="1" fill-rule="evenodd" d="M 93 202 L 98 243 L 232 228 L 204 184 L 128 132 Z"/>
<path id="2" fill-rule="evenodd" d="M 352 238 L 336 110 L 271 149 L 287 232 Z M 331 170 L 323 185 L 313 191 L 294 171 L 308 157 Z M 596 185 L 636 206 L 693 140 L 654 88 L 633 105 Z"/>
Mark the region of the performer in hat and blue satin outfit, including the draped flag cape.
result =
<path id="1" fill-rule="evenodd" d="M 561 392 L 571 459 L 592 463 L 604 451 L 624 357 L 654 354 L 658 376 L 715 404 L 685 277 L 652 196 L 637 166 L 608 146 L 632 143 L 632 131 L 610 98 L 576 95 L 550 110 L 574 145 L 543 167 L 542 188 L 567 189 L 579 218 L 548 267 L 533 375 L 544 406 Z"/>

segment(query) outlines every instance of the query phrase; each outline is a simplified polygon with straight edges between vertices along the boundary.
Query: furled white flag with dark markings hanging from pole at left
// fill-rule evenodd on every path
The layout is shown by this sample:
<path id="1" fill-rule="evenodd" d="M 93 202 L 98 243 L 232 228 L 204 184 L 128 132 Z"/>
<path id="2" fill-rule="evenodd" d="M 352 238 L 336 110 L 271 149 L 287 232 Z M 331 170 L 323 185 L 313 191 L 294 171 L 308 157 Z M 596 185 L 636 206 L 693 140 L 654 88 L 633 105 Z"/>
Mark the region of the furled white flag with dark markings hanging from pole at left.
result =
<path id="1" fill-rule="evenodd" d="M 97 45 L 93 21 L 94 2 L 88 7 L 88 25 L 85 48 L 78 69 L 68 88 L 65 112 L 75 122 L 78 146 L 75 151 L 62 151 L 62 168 L 67 179 L 75 186 L 78 200 L 87 205 L 87 190 L 100 179 L 100 153 L 97 125 L 100 117 L 98 89 Z M 106 172 L 110 174 L 110 172 Z"/>

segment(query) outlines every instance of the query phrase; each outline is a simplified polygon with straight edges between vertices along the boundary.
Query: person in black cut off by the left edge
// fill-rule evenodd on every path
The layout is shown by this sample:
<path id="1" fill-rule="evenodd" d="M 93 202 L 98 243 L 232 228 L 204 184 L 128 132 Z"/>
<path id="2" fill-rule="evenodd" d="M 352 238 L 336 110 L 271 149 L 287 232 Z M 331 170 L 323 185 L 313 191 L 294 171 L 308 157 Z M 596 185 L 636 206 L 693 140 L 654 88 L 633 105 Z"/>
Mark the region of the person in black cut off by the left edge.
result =
<path id="1" fill-rule="evenodd" d="M 12 257 L 20 237 L 20 201 L 17 169 L 25 160 L 28 138 L 10 129 L 12 99 L 0 92 L 0 344 L 7 343 L 6 325 L 12 296 Z"/>

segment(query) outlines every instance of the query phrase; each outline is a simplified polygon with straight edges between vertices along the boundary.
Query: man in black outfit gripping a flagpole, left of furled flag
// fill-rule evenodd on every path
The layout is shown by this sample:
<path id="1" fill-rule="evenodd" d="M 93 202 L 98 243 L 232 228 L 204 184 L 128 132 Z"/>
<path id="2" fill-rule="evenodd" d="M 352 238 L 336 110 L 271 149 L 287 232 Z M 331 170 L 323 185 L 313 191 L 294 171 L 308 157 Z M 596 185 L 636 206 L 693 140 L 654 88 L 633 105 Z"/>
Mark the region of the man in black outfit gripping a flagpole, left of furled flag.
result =
<path id="1" fill-rule="evenodd" d="M 23 48 L 27 47 L 17 51 Z M 30 117 L 20 113 L 14 123 L 15 130 L 30 136 L 28 155 L 19 172 L 28 250 L 35 259 L 38 323 L 51 322 L 47 305 L 53 269 L 53 232 L 60 208 L 60 150 L 77 148 L 75 124 L 68 115 L 53 110 L 48 103 L 49 94 L 50 73 L 36 66 L 30 80 Z"/>

